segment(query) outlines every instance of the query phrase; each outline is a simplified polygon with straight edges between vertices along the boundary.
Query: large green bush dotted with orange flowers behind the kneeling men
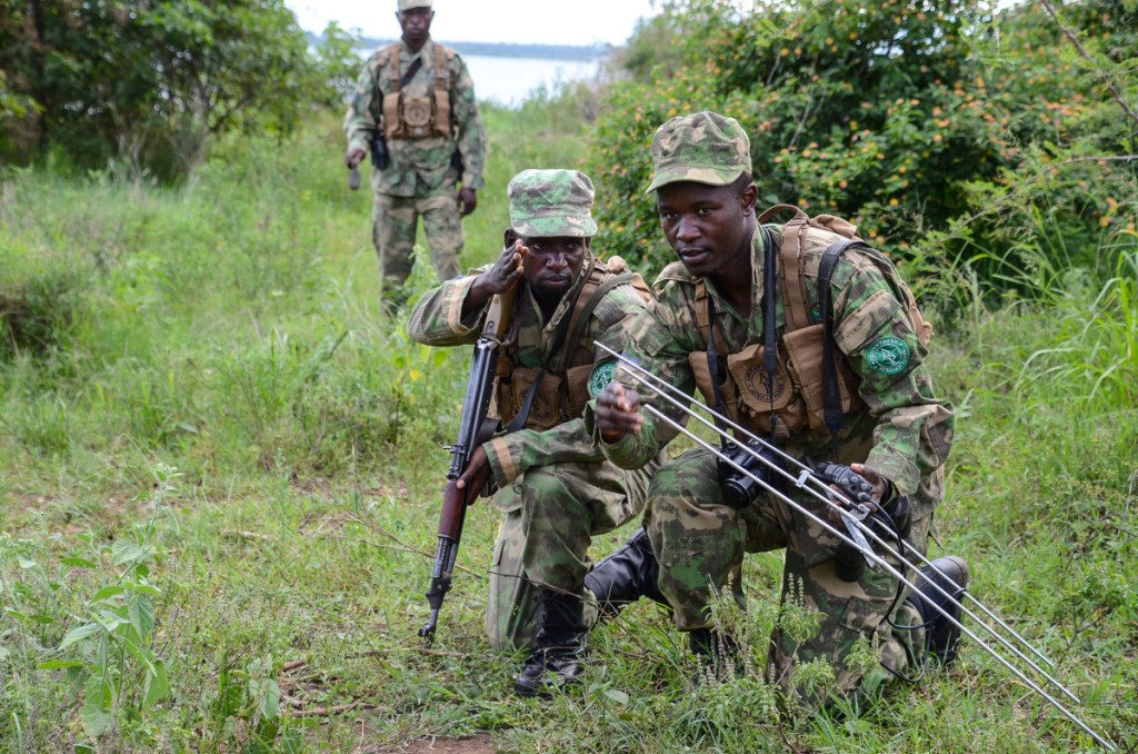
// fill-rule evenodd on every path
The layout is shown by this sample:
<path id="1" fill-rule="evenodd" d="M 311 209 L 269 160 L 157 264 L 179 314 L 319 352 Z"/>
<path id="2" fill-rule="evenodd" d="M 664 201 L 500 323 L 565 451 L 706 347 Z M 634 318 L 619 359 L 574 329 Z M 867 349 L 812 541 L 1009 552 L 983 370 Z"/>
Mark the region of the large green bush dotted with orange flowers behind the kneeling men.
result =
<path id="1" fill-rule="evenodd" d="M 1136 5 L 1063 7 L 1131 98 Z M 745 10 L 729 0 L 676 0 L 662 16 L 673 33 L 660 23 L 638 33 L 671 44 L 646 79 L 613 87 L 589 165 L 605 245 L 637 249 L 649 268 L 671 259 L 643 194 L 652 133 L 699 109 L 747 129 L 761 203 L 852 218 L 864 237 L 901 256 L 925 253 L 916 241 L 932 231 L 946 233 L 935 252 L 954 259 L 978 246 L 997 256 L 1012 248 L 1019 239 L 993 235 L 1008 226 L 999 213 L 1015 207 L 1022 220 L 1055 200 L 1054 186 L 1017 194 L 1024 170 L 1054 167 L 1039 167 L 1044 161 L 1083 161 L 1057 173 L 1061 232 L 1081 254 L 1094 254 L 1102 213 L 1118 215 L 1135 196 L 1125 162 L 1106 183 L 1088 181 L 1103 172 L 1099 157 L 1132 151 L 1132 124 L 1118 106 L 1104 118 L 1111 96 L 1100 77 L 1080 71 L 1037 3 L 992 15 L 973 0 L 792 0 Z M 632 47 L 644 52 L 636 40 Z M 643 55 L 635 63 L 634 73 L 649 67 Z M 1129 192 L 1118 183 L 1128 180 Z M 1104 185 L 1119 188 L 1102 196 Z M 1009 194 L 1023 200 L 1005 200 Z"/>

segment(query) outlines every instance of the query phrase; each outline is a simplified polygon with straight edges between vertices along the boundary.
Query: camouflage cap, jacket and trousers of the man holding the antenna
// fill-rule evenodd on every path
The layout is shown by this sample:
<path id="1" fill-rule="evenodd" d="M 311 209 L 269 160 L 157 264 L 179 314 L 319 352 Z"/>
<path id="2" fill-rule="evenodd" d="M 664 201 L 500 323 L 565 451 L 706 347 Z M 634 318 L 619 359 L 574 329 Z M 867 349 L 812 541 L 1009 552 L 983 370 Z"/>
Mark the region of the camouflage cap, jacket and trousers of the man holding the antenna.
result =
<path id="1" fill-rule="evenodd" d="M 668 155 L 673 155 L 670 165 Z M 650 190 L 684 180 L 728 185 L 743 171 L 750 171 L 745 133 L 737 123 L 721 116 L 708 120 L 700 114 L 669 121 L 658 132 L 653 156 L 658 172 Z M 775 243 L 781 244 L 782 228 L 768 228 Z M 808 228 L 806 232 L 824 231 Z M 716 337 L 721 333 L 731 354 L 744 352 L 764 339 L 762 236 L 757 227 L 751 241 L 754 303 L 749 317 L 740 315 L 714 285 L 707 284 L 708 295 L 716 304 L 719 326 Z M 817 256 L 801 260 L 806 277 L 813 276 L 815 280 Z M 775 273 L 780 279 L 784 274 L 781 261 Z M 699 359 L 693 356 L 706 353 L 707 349 L 698 325 L 696 281 L 682 263 L 666 268 L 653 286 L 648 310 L 633 326 L 632 345 L 625 352 L 685 394 L 696 386 L 693 363 L 699 363 Z M 817 286 L 807 288 L 811 292 L 808 302 L 811 319 L 820 319 Z M 899 494 L 909 497 L 914 523 L 908 541 L 923 554 L 933 508 L 943 497 L 943 462 L 953 435 L 951 408 L 934 396 L 932 380 L 922 363 L 923 344 L 904 315 L 889 280 L 867 252 L 852 248 L 840 257 L 831 292 L 836 360 L 844 361 L 844 366 L 839 366 L 860 378 L 858 392 L 865 405 L 847 413 L 838 437 L 838 459 L 832 459 L 833 437 L 808 425 L 780 432 L 777 444 L 808 464 L 857 461 L 876 469 L 892 482 Z M 782 352 L 786 327 L 782 295 L 776 302 L 775 319 Z M 652 391 L 625 371 L 618 371 L 617 379 L 640 392 L 644 403 L 683 421 L 678 409 L 653 400 Z M 780 421 L 782 418 L 780 415 Z M 752 423 L 748 428 L 768 436 L 768 427 Z M 674 428 L 645 413 L 638 433 L 613 444 L 602 444 L 615 464 L 636 468 L 676 434 Z M 823 519 L 827 517 L 820 502 L 801 494 L 793 497 L 806 509 Z M 785 549 L 782 599 L 819 610 L 822 628 L 817 637 L 803 642 L 776 628 L 768 673 L 805 702 L 818 699 L 809 698 L 806 689 L 795 688 L 793 670 L 797 664 L 813 659 L 820 658 L 832 665 L 838 689 L 843 692 L 855 689 L 876 692 L 893 678 L 883 666 L 899 673 L 908 669 L 907 674 L 915 674 L 912 667 L 923 653 L 924 632 L 920 628 L 905 630 L 890 625 L 890 621 L 901 626 L 920 623 L 914 607 L 896 599 L 897 581 L 869 568 L 853 583 L 838 579 L 834 574 L 838 539 L 772 495 L 760 493 L 741 510 L 724 505 L 716 460 L 709 451 L 688 451 L 659 470 L 649 490 L 645 528 L 660 562 L 661 591 L 674 606 L 676 624 L 683 631 L 710 628 L 709 584 L 719 590 L 731 583 L 737 604 L 745 605 L 740 579 L 745 552 Z M 908 577 L 913 579 L 912 572 Z M 846 665 L 859 638 L 879 642 L 883 665 L 865 675 Z"/>

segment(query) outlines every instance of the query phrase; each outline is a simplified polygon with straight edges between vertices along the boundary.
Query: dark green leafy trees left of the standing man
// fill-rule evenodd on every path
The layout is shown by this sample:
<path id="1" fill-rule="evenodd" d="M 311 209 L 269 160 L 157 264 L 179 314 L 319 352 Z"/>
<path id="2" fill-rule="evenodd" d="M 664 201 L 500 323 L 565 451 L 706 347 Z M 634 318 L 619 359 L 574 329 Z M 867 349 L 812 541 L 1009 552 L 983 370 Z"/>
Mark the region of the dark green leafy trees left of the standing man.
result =
<path id="1" fill-rule="evenodd" d="M 310 55 L 281 0 L 0 5 L 0 73 L 20 101 L 34 104 L 40 150 L 60 149 L 79 165 L 117 157 L 183 173 L 211 138 L 286 133 L 333 98 L 321 77 L 330 60 Z M 13 142 L 18 112 L 9 110 Z"/>

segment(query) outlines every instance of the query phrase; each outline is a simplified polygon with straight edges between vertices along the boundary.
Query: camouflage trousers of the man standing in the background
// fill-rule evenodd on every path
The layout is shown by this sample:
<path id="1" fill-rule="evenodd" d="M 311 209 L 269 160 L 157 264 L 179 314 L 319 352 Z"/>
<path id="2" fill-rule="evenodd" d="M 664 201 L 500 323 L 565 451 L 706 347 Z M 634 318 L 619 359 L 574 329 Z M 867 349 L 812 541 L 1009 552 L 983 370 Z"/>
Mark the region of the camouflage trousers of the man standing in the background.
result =
<path id="1" fill-rule="evenodd" d="M 414 267 L 415 229 L 422 218 L 439 282 L 459 274 L 464 236 L 455 192 L 427 197 L 374 194 L 371 238 L 385 288 L 401 289 Z"/>

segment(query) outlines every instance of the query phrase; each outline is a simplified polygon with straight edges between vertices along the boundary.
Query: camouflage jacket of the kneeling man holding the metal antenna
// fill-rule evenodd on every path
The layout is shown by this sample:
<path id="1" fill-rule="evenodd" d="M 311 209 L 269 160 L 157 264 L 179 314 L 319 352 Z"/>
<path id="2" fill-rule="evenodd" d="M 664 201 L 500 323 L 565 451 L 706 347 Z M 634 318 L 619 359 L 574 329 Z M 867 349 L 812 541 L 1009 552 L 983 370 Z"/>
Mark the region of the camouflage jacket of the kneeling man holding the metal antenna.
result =
<path id="1" fill-rule="evenodd" d="M 776 243 L 781 243 L 782 228 L 768 228 Z M 754 233 L 751 246 L 754 305 L 748 318 L 741 317 L 715 286 L 707 285 L 716 304 L 717 334 L 721 333 L 727 341 L 729 353 L 762 343 L 761 232 Z M 802 267 L 809 273 L 817 270 L 817 259 L 803 260 Z M 776 267 L 776 274 L 782 274 L 781 263 Z M 810 318 L 819 321 L 817 286 L 808 286 L 808 290 Z M 685 395 L 691 395 L 696 385 L 691 354 L 700 354 L 707 347 L 696 320 L 695 292 L 696 278 L 682 263 L 668 265 L 653 284 L 652 301 L 633 325 L 632 344 L 625 352 Z M 849 368 L 859 378 L 858 393 L 864 401 L 864 405 L 846 416 L 839 434 L 840 461 L 864 461 L 883 474 L 896 485 L 899 494 L 910 497 L 915 503 L 915 518 L 923 517 L 943 497 L 942 466 L 953 439 L 951 405 L 933 394 L 932 379 L 923 363 L 924 349 L 909 327 L 885 276 L 866 252 L 851 248 L 842 254 L 831 280 L 831 296 L 838 345 L 835 355 L 839 361 L 844 361 L 839 367 Z M 781 298 L 780 295 L 775 308 L 780 339 L 786 327 Z M 904 358 L 884 363 L 881 359 L 882 343 L 888 346 L 889 355 L 900 354 Z M 651 403 L 667 416 L 683 421 L 682 411 L 637 384 L 624 370 L 618 372 L 617 379 L 636 390 L 642 402 Z M 588 419 L 592 426 L 591 412 Z M 626 435 L 617 443 L 602 443 L 602 446 L 605 456 L 618 466 L 636 468 L 676 434 L 675 428 L 645 413 L 638 434 Z M 801 427 L 789 437 L 781 439 L 778 444 L 787 453 L 803 460 L 830 459 L 833 454 L 832 436 L 809 427 Z"/>

